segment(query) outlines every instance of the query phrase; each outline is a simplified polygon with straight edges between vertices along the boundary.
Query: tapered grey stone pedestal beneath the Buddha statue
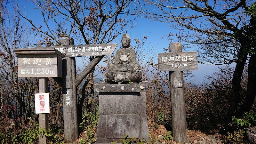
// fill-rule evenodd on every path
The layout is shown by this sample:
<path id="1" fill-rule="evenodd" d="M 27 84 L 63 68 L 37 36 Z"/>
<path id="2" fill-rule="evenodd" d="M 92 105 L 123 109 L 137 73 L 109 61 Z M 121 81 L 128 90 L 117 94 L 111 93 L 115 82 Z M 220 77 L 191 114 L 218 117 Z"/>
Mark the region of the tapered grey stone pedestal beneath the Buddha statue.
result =
<path id="1" fill-rule="evenodd" d="M 121 142 L 124 136 L 149 143 L 146 114 L 146 88 L 139 84 L 94 84 L 99 93 L 99 123 L 96 143 Z"/>

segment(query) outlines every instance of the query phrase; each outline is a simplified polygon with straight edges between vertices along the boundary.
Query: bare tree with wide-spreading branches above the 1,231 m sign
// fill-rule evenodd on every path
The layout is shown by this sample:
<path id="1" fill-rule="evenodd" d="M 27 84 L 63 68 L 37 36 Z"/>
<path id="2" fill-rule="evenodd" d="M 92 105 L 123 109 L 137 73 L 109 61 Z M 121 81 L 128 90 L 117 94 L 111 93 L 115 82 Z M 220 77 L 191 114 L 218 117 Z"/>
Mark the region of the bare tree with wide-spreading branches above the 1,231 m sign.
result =
<path id="1" fill-rule="evenodd" d="M 152 9 L 146 10 L 143 4 L 140 4 L 137 11 L 143 16 L 166 22 L 169 26 L 178 29 L 180 31 L 178 34 L 170 32 L 167 35 L 170 41 L 199 46 L 199 62 L 236 63 L 227 116 L 230 120 L 239 109 L 241 77 L 249 53 L 247 37 L 234 34 L 241 27 L 249 24 L 249 17 L 246 17 L 245 11 L 252 1 L 145 0 L 144 2 L 145 5 L 152 5 Z M 173 38 L 175 35 L 176 38 Z"/>

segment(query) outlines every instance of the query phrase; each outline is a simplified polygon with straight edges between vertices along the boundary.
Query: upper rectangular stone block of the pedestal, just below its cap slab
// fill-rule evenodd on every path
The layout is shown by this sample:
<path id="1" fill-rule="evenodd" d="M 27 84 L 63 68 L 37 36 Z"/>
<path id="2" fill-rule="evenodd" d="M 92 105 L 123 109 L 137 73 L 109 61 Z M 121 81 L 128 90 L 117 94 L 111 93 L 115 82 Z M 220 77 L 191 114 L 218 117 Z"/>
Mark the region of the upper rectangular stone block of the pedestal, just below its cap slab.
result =
<path id="1" fill-rule="evenodd" d="M 99 113 L 146 114 L 146 96 L 99 95 Z"/>

